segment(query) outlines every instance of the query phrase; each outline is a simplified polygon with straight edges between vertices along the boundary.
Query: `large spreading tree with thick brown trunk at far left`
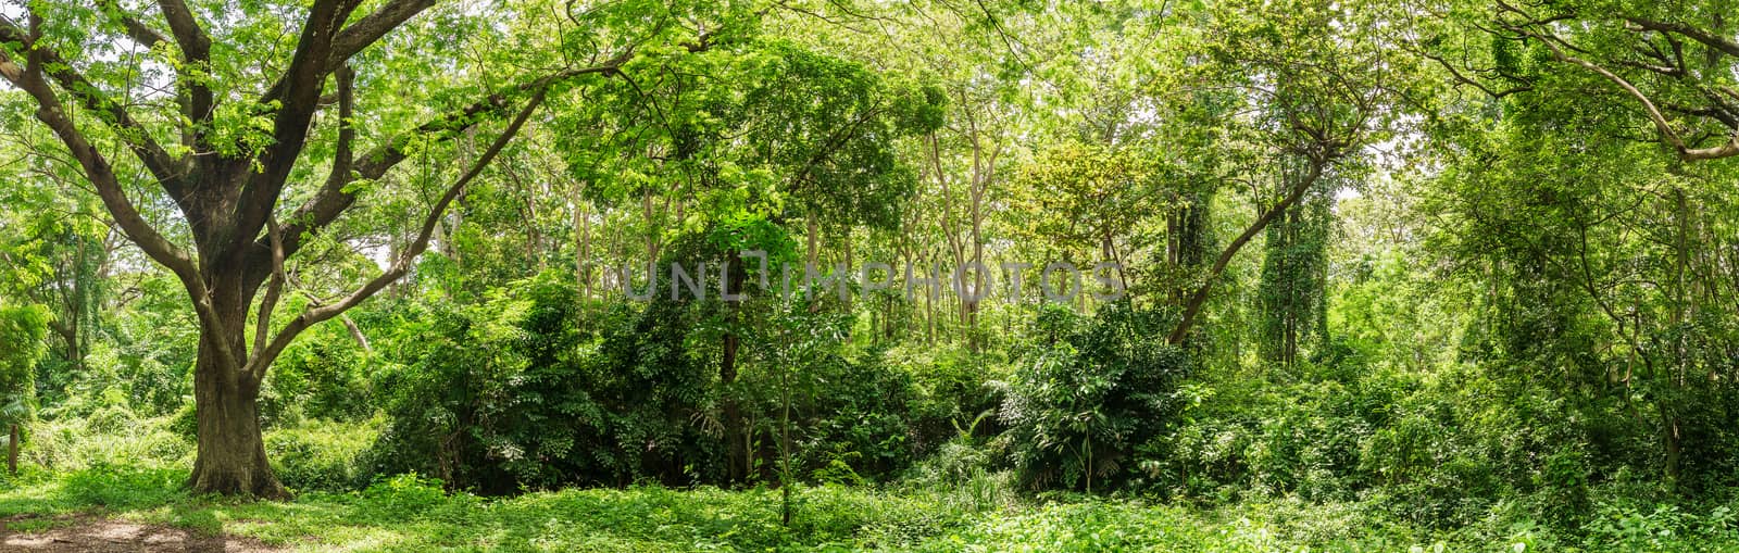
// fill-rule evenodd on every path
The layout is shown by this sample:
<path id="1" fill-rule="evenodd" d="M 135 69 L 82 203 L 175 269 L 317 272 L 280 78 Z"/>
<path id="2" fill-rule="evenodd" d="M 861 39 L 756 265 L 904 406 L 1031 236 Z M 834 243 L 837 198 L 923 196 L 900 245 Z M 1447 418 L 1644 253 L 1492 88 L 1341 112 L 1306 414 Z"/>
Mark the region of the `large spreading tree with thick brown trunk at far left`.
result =
<path id="1" fill-rule="evenodd" d="M 191 487 L 280 497 L 256 410 L 278 353 L 409 273 L 548 94 L 623 75 L 635 56 L 704 49 L 706 19 L 650 2 L 9 2 L 0 77 L 193 301 Z M 377 275 L 341 299 L 285 299 L 285 263 L 330 240 L 393 167 L 473 137 L 485 144 L 435 172 L 421 224 Z M 275 318 L 280 299 L 297 313 Z"/>

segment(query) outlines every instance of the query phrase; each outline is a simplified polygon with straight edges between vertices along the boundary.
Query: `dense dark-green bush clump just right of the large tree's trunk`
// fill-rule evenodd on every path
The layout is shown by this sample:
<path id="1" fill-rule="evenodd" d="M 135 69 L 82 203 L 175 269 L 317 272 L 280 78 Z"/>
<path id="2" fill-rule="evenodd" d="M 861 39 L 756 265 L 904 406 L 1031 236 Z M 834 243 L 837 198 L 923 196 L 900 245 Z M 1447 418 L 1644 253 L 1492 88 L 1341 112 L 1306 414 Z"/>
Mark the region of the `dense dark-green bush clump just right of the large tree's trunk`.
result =
<path id="1" fill-rule="evenodd" d="M 370 470 L 482 494 L 716 473 L 716 438 L 692 424 L 708 393 L 706 367 L 683 350 L 692 315 L 623 304 L 596 337 L 579 329 L 567 276 L 546 271 L 483 304 L 403 315 L 417 322 L 379 383 L 390 421 Z"/>

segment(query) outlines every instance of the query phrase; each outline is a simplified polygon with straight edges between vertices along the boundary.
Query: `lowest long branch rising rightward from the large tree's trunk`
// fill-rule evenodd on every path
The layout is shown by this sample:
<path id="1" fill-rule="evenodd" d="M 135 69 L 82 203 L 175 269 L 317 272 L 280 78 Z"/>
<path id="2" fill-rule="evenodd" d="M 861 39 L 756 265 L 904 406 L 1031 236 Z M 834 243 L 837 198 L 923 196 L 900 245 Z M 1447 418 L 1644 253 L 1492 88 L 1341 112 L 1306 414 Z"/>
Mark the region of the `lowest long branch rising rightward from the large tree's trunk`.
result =
<path id="1" fill-rule="evenodd" d="M 459 193 L 464 191 L 464 186 L 470 184 L 473 179 L 476 179 L 476 176 L 482 174 L 483 169 L 489 167 L 489 163 L 494 162 L 497 155 L 501 155 L 501 150 L 506 148 L 515 136 L 518 136 L 520 127 L 523 127 L 525 120 L 529 120 L 532 113 L 537 111 L 537 108 L 543 104 L 543 99 L 544 99 L 543 89 L 532 94 L 530 101 L 525 103 L 525 108 L 522 108 L 520 113 L 513 118 L 513 122 L 508 123 L 508 129 L 501 130 L 501 136 L 496 137 L 496 141 L 489 146 L 489 150 L 485 150 L 483 155 L 480 155 L 476 162 L 473 162 L 471 167 L 463 176 L 459 176 L 459 179 L 454 181 L 452 186 L 447 188 L 447 193 L 443 193 L 440 200 L 435 202 L 435 207 L 430 209 L 428 217 L 423 219 L 423 230 L 417 231 L 416 240 L 412 240 L 410 245 L 407 245 L 398 254 L 398 259 L 393 259 L 393 264 L 386 268 L 386 271 L 374 276 L 360 289 L 356 289 L 355 292 L 351 292 L 344 299 L 339 299 L 334 304 L 315 306 L 303 311 L 294 320 L 290 320 L 283 329 L 280 329 L 278 334 L 259 355 L 250 356 L 243 370 L 245 374 L 250 376 L 250 383 L 259 383 L 263 377 L 266 377 L 266 369 L 271 367 L 271 362 L 303 330 L 320 322 L 343 315 L 346 310 L 355 308 L 362 301 L 369 299 L 381 289 L 386 289 L 386 285 L 393 283 L 407 271 L 410 271 L 410 264 L 416 263 L 417 256 L 423 256 L 423 252 L 428 250 L 430 238 L 435 235 L 435 226 L 438 226 L 442 216 L 447 214 L 447 207 L 452 205 L 452 202 L 459 198 Z"/>

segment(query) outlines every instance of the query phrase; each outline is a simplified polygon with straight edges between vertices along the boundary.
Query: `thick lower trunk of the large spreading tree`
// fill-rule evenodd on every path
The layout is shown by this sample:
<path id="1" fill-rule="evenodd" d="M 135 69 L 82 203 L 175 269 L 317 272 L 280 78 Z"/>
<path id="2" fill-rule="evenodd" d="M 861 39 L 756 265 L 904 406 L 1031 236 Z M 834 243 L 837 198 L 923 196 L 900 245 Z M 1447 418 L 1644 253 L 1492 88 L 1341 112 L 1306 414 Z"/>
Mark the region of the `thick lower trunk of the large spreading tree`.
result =
<path id="1" fill-rule="evenodd" d="M 285 499 L 289 492 L 271 473 L 259 433 L 259 386 L 247 381 L 240 367 L 224 367 L 202 339 L 193 370 L 198 457 L 188 485 L 200 494 Z"/>

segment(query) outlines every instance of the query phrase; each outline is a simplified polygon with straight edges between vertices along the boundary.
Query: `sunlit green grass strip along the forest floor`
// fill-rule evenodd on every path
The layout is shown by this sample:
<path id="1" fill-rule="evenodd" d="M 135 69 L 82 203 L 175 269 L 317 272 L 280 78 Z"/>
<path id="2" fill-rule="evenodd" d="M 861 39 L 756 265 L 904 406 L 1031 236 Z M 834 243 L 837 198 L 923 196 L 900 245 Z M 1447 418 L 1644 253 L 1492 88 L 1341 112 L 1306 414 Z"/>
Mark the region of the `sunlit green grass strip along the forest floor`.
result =
<path id="1" fill-rule="evenodd" d="M 1278 501 L 1184 508 L 1141 501 L 1033 503 L 930 490 L 805 487 L 781 522 L 777 490 L 574 489 L 483 499 L 400 476 L 289 503 L 190 497 L 174 470 L 90 468 L 0 483 L 9 539 L 186 532 L 247 551 L 1732 551 L 1708 536 L 1569 548 L 1539 529 L 1469 539 L 1372 523 L 1355 504 Z M 106 527 L 103 527 L 106 529 Z M 115 551 L 160 551 L 146 548 Z M 24 543 L 24 541 L 17 541 Z M 38 539 L 37 543 L 43 543 Z M 120 541 L 115 541 L 120 543 Z M 3 548 L 3 546 L 0 546 Z M 19 548 L 26 550 L 28 548 Z M 49 550 L 73 551 L 77 548 Z M 191 551 L 197 548 L 177 548 Z M 108 550 L 104 550 L 108 551 Z M 167 550 L 162 550 L 167 551 Z"/>

